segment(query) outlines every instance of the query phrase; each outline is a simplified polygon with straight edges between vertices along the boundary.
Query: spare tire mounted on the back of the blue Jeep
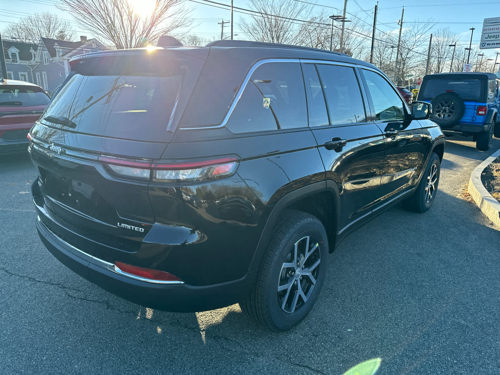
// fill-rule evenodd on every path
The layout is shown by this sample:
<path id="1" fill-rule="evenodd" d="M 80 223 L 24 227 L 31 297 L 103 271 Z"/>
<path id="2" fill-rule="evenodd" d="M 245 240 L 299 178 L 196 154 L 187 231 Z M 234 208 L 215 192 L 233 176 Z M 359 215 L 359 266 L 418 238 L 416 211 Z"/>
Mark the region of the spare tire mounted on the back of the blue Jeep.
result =
<path id="1" fill-rule="evenodd" d="M 465 104 L 460 96 L 453 92 L 445 92 L 434 97 L 430 119 L 443 128 L 458 123 L 465 112 Z"/>

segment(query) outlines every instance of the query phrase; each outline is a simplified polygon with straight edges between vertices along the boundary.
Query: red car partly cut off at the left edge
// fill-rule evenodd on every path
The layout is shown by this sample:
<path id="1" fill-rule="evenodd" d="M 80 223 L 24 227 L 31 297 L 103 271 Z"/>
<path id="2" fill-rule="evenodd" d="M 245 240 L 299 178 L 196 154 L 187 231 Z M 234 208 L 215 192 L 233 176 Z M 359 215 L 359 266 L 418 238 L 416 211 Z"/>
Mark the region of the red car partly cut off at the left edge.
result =
<path id="1" fill-rule="evenodd" d="M 49 102 L 36 84 L 0 78 L 0 154 L 27 149 L 28 130 Z"/>

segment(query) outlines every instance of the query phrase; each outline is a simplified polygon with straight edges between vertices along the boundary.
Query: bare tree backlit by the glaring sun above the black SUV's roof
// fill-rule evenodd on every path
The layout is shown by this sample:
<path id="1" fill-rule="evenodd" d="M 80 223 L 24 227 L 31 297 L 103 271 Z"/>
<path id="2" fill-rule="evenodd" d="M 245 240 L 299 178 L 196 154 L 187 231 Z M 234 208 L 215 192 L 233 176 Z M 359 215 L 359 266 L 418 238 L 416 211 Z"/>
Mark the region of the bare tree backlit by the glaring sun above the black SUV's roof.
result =
<path id="1" fill-rule="evenodd" d="M 156 0 L 149 14 L 141 15 L 130 0 L 59 0 L 95 36 L 118 49 L 135 48 L 155 42 L 164 34 L 192 24 L 191 8 L 183 0 Z"/>

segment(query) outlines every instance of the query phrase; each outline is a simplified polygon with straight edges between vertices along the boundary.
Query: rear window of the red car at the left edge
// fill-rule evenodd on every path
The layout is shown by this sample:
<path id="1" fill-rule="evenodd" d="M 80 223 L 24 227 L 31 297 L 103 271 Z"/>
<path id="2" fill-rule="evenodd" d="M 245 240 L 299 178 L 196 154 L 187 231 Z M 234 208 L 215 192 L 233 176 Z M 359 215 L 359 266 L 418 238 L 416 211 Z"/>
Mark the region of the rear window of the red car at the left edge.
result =
<path id="1" fill-rule="evenodd" d="M 22 84 L 0 86 L 0 106 L 46 105 L 49 101 L 50 97 L 40 87 Z"/>

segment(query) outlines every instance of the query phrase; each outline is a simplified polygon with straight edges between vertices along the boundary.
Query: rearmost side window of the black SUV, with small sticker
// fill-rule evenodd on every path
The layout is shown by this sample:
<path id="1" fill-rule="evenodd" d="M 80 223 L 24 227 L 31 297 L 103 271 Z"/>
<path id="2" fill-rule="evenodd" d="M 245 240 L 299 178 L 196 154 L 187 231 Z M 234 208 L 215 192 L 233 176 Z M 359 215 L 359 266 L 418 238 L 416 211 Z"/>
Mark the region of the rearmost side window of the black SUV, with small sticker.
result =
<path id="1" fill-rule="evenodd" d="M 298 62 L 258 66 L 226 124 L 233 133 L 307 126 L 304 82 Z"/>

